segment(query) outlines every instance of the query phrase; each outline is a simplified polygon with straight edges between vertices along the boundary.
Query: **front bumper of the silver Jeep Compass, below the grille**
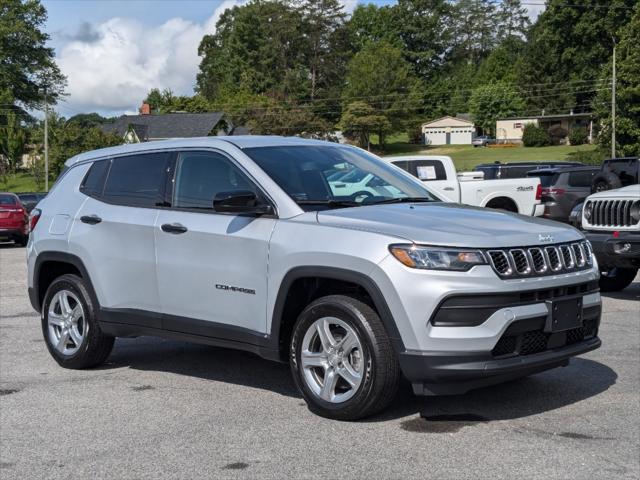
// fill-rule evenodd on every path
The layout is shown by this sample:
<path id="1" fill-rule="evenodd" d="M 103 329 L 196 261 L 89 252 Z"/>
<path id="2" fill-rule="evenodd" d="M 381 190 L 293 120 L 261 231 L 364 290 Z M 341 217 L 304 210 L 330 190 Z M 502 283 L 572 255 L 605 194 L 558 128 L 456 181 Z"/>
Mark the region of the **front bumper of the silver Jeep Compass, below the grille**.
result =
<path id="1" fill-rule="evenodd" d="M 601 303 L 595 288 L 595 282 L 590 282 L 564 289 L 522 292 L 520 299 L 533 302 L 524 305 L 514 304 L 518 298 L 515 294 L 453 297 L 450 299 L 453 302 L 440 305 L 430 321 L 447 325 L 433 327 L 443 335 L 451 337 L 464 331 L 465 336 L 472 337 L 474 332 L 479 334 L 488 324 L 495 323 L 496 318 L 506 318 L 506 312 L 518 319 L 509 324 L 497 341 L 493 337 L 489 351 L 405 351 L 399 356 L 402 371 L 417 394 L 446 395 L 566 365 L 569 358 L 600 346 L 597 334 Z M 545 302 L 539 303 L 541 300 Z M 574 319 L 577 316 L 578 321 L 570 328 L 552 331 L 550 322 L 556 318 L 553 306 L 558 305 L 556 302 L 572 301 L 575 304 L 567 313 Z M 518 310 L 520 313 L 516 313 Z M 474 318 L 477 326 L 454 326 L 455 322 L 467 325 Z M 468 343 L 468 339 L 462 341 Z"/>

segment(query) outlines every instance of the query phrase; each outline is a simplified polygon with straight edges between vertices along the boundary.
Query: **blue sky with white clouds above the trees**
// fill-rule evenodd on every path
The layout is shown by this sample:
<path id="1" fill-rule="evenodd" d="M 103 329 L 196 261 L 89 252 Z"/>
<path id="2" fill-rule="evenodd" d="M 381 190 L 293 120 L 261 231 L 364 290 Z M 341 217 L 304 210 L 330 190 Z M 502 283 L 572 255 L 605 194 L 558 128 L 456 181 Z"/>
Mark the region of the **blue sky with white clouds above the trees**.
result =
<path id="1" fill-rule="evenodd" d="M 55 107 L 66 117 L 135 113 L 151 88 L 191 95 L 198 45 L 222 12 L 246 0 L 43 0 L 46 31 L 67 76 L 68 95 Z M 358 3 L 341 0 L 347 12 Z M 530 7 L 536 16 L 539 7 Z"/>

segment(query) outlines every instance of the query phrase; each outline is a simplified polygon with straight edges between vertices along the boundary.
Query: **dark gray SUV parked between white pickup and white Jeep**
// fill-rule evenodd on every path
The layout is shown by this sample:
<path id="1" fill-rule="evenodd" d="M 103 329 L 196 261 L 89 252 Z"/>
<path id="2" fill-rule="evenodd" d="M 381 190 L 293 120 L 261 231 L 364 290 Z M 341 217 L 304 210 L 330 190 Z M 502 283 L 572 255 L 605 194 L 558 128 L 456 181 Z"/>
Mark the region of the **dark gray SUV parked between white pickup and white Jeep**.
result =
<path id="1" fill-rule="evenodd" d="M 540 178 L 542 216 L 567 223 L 571 210 L 591 194 L 591 183 L 599 172 L 597 167 L 560 167 L 533 170 L 527 176 Z"/>

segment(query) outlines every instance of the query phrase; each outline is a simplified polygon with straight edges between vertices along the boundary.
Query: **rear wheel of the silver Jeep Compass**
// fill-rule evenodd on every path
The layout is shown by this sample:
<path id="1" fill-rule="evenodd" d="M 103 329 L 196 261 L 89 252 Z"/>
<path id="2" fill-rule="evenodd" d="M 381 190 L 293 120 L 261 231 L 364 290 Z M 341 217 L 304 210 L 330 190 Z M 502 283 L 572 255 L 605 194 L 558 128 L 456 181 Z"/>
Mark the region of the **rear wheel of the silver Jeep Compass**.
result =
<path id="1" fill-rule="evenodd" d="M 115 338 L 96 320 L 96 306 L 76 275 L 62 275 L 47 289 L 42 305 L 42 333 L 53 358 L 65 368 L 90 368 L 103 363 Z"/>

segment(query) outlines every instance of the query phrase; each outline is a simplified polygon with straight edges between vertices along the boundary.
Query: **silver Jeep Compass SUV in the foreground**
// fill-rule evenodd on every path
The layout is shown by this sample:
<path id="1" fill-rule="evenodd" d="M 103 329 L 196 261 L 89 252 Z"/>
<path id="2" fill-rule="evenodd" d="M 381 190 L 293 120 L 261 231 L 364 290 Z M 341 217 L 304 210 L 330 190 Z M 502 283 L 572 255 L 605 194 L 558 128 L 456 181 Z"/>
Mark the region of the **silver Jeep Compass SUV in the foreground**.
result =
<path id="1" fill-rule="evenodd" d="M 370 176 L 341 193 L 345 174 Z M 354 147 L 212 137 L 85 153 L 32 213 L 29 296 L 63 367 L 157 335 L 287 361 L 314 412 L 567 365 L 600 345 L 573 227 L 443 203 Z"/>

